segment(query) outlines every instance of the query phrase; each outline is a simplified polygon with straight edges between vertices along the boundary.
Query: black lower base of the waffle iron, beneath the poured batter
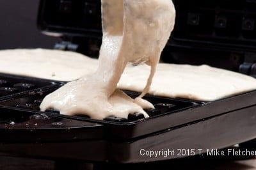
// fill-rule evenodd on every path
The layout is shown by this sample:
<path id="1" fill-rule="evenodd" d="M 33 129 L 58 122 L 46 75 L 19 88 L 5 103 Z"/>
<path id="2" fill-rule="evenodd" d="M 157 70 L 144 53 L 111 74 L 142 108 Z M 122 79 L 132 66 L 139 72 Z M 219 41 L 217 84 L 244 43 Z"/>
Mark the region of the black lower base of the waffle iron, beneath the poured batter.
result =
<path id="1" fill-rule="evenodd" d="M 61 85 L 58 84 L 58 87 Z M 134 163 L 189 156 L 143 157 L 140 155 L 143 148 L 197 148 L 204 152 L 207 148 L 225 148 L 256 136 L 256 91 L 214 102 L 148 95 L 145 98 L 154 104 L 182 104 L 183 107 L 125 122 L 99 121 L 40 112 L 35 108 L 33 110 L 33 107 L 17 107 L 19 102 L 34 100 L 36 96 L 44 97 L 58 87 L 47 86 L 31 90 L 33 93 L 26 91 L 1 98 L 1 152 L 22 157 Z M 138 95 L 129 91 L 126 93 L 131 97 Z M 97 153 L 95 150 L 98 150 Z"/>

